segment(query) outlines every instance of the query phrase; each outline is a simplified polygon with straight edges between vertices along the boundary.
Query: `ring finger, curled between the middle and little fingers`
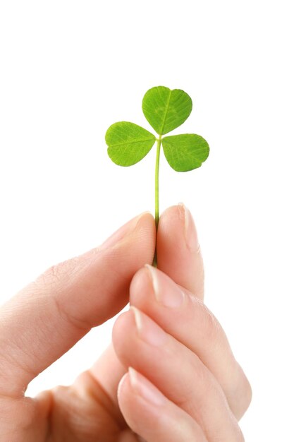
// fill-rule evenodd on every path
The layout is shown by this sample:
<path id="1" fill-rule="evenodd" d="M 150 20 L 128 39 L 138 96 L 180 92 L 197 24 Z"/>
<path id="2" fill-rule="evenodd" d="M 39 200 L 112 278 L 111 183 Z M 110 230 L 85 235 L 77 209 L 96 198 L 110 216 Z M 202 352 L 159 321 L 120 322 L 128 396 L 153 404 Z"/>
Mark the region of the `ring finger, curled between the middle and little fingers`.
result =
<path id="1" fill-rule="evenodd" d="M 113 338 L 121 362 L 140 371 L 190 414 L 209 442 L 243 441 L 214 376 L 194 353 L 152 319 L 132 308 L 116 321 Z"/>

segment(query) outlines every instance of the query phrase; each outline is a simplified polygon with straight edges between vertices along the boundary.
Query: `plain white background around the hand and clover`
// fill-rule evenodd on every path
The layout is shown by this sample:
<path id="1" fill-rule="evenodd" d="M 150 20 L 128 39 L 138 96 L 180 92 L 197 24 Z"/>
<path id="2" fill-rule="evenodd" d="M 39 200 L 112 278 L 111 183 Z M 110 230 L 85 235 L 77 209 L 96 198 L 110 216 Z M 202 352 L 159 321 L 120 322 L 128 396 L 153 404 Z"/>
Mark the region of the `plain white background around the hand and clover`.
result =
<path id="1" fill-rule="evenodd" d="M 149 129 L 142 96 L 188 92 L 174 133 L 209 141 L 161 210 L 197 223 L 206 300 L 252 383 L 247 442 L 293 440 L 293 14 L 291 1 L 0 1 L 0 299 L 154 205 L 154 153 L 106 154 L 114 121 Z M 29 387 L 68 384 L 106 347 L 109 321 Z"/>

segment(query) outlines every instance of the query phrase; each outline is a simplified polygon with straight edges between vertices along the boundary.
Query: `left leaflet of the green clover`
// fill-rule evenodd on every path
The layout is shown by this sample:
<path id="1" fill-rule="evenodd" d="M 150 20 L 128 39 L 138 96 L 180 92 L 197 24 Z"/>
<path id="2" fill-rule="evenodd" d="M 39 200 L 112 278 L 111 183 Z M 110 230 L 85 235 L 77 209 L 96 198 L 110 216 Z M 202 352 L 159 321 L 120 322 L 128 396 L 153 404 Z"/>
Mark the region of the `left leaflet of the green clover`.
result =
<path id="1" fill-rule="evenodd" d="M 155 139 L 153 133 L 128 121 L 112 124 L 105 135 L 108 155 L 119 166 L 132 166 L 142 160 Z"/>

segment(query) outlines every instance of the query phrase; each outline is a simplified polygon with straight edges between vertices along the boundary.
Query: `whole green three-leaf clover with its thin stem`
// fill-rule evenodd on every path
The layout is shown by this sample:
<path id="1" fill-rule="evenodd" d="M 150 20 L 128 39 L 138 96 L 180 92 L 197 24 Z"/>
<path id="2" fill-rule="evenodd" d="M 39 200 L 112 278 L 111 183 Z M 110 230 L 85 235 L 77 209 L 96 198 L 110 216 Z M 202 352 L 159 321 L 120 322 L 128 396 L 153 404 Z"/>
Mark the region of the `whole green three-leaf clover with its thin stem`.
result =
<path id="1" fill-rule="evenodd" d="M 159 154 L 161 143 L 169 165 L 177 172 L 187 172 L 202 165 L 209 155 L 209 145 L 200 135 L 165 136 L 188 119 L 192 111 L 192 100 L 180 89 L 157 86 L 147 90 L 142 102 L 143 113 L 158 134 L 128 121 L 112 124 L 106 131 L 109 157 L 116 165 L 132 166 L 149 153 L 157 141 L 155 165 L 155 224 L 159 222 Z M 156 261 L 156 258 L 154 258 Z"/>

